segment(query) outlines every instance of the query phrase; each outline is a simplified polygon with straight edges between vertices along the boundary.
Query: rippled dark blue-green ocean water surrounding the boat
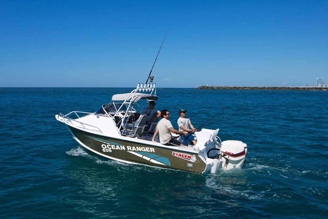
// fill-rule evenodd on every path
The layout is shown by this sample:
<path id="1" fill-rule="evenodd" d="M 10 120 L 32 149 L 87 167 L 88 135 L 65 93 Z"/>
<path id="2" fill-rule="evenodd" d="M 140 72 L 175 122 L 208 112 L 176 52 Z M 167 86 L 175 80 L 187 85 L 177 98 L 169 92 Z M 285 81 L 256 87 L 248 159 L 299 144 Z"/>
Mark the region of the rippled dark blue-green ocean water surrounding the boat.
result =
<path id="1" fill-rule="evenodd" d="M 0 88 L 0 218 L 327 218 L 328 92 L 158 89 L 174 128 L 238 100 L 205 128 L 247 143 L 246 164 L 201 175 L 95 155 L 55 120 L 131 90 Z"/>

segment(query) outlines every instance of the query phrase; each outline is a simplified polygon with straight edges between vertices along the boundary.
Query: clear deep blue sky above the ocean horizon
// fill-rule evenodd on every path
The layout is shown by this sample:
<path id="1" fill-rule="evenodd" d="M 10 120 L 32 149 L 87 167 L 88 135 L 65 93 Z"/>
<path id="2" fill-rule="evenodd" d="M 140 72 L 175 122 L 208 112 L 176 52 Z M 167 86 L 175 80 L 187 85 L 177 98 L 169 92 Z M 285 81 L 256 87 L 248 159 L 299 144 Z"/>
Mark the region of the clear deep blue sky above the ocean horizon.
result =
<path id="1" fill-rule="evenodd" d="M 0 0 L 0 87 L 328 82 L 328 1 Z"/>

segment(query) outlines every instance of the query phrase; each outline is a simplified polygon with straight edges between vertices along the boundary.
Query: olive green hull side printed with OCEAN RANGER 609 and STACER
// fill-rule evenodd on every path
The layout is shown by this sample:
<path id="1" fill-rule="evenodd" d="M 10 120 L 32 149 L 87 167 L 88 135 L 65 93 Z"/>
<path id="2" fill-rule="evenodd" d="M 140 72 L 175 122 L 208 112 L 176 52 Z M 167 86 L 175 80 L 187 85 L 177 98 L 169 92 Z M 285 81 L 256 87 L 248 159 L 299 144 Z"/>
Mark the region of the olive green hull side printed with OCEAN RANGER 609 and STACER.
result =
<path id="1" fill-rule="evenodd" d="M 147 164 L 164 168 L 203 173 L 206 164 L 198 153 L 172 150 L 149 144 L 110 138 L 92 134 L 68 125 L 68 128 L 82 146 L 107 158 L 122 162 Z"/>

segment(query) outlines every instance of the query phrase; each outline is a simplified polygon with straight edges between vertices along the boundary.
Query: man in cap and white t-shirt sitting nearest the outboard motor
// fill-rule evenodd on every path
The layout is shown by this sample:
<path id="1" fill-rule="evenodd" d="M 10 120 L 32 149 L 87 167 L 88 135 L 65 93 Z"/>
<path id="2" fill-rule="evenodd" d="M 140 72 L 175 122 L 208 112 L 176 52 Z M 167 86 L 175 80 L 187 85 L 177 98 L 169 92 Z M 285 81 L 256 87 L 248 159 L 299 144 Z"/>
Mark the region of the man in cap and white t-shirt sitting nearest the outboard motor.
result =
<path id="1" fill-rule="evenodd" d="M 198 130 L 194 128 L 193 124 L 191 124 L 189 117 L 186 116 L 186 112 L 187 110 L 180 109 L 180 118 L 178 119 L 178 126 L 179 131 L 185 131 L 190 133 L 188 135 L 181 136 L 181 139 L 183 144 L 188 145 L 188 142 L 193 142 L 193 144 L 195 145 L 197 142 L 191 133 L 196 132 Z M 192 129 L 189 129 L 189 126 Z"/>

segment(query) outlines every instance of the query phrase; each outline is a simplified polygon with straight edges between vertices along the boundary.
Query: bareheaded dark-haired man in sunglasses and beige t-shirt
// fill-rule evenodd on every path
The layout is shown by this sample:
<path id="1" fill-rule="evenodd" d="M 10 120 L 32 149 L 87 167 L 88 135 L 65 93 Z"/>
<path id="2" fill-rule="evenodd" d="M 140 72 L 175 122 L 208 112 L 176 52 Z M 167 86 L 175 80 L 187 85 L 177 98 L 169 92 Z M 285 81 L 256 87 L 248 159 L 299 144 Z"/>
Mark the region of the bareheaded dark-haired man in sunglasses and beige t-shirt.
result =
<path id="1" fill-rule="evenodd" d="M 161 144 L 169 145 L 169 146 L 185 145 L 185 144 L 182 144 L 182 143 L 172 139 L 171 132 L 174 134 L 180 134 L 180 135 L 187 135 L 188 132 L 178 131 L 173 128 L 171 122 L 169 121 L 170 113 L 168 110 L 162 110 L 161 117 L 162 117 L 162 119 L 157 124 L 157 128 L 154 133 L 152 141 L 156 142 L 155 138 L 156 138 L 157 134 L 159 133 L 159 141 L 161 142 Z"/>

